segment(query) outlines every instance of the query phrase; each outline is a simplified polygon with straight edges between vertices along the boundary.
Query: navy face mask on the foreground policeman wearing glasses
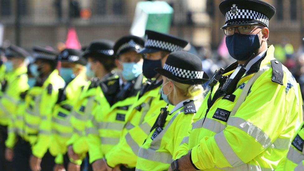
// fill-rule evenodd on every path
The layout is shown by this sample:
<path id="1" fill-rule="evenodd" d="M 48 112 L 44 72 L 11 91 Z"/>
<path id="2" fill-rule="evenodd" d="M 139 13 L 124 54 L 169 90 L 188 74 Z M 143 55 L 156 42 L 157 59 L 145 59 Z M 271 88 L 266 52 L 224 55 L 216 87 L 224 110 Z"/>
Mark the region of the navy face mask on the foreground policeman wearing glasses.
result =
<path id="1" fill-rule="evenodd" d="M 226 46 L 232 58 L 245 61 L 260 48 L 259 35 L 241 35 L 235 33 L 232 36 L 226 37 Z"/>

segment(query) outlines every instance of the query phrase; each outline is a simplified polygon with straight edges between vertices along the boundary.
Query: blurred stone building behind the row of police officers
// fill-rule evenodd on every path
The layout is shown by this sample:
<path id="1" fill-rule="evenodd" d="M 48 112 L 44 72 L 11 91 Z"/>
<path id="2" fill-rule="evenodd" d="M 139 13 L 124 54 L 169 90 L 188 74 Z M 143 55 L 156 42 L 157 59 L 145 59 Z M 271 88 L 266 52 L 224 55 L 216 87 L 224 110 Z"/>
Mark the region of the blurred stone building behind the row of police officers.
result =
<path id="1" fill-rule="evenodd" d="M 0 0 L 4 40 L 15 41 L 16 2 L 21 3 L 21 46 L 56 46 L 66 39 L 69 25 L 76 27 L 82 45 L 96 39 L 117 40 L 129 34 L 139 0 Z M 193 45 L 216 49 L 224 37 L 225 22 L 218 10 L 222 0 L 166 0 L 173 8 L 170 34 Z M 266 0 L 277 8 L 270 21 L 270 43 L 300 46 L 304 0 Z"/>

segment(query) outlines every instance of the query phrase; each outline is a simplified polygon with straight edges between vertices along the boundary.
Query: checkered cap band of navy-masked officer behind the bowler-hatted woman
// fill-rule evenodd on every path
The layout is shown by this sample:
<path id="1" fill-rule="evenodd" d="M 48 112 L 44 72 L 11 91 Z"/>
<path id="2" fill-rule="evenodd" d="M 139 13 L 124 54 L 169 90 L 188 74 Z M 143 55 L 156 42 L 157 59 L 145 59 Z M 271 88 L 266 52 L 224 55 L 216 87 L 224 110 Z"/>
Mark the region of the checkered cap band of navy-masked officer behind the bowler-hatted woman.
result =
<path id="1" fill-rule="evenodd" d="M 153 40 L 153 39 L 147 39 L 147 41 L 145 42 L 145 47 L 154 47 L 157 49 L 162 49 L 170 52 L 183 50 L 183 47 L 181 46 L 174 45 L 169 42 L 164 42 L 161 40 Z"/>

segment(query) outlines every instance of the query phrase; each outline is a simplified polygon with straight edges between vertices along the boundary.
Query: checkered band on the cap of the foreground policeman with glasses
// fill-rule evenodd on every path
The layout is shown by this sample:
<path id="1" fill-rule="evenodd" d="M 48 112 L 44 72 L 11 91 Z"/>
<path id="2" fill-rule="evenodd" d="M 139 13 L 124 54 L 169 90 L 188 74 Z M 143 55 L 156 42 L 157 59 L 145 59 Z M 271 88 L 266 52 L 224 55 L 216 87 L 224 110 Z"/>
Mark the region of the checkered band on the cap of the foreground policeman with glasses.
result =
<path id="1" fill-rule="evenodd" d="M 226 12 L 226 23 L 230 20 L 235 19 L 251 19 L 256 20 L 264 23 L 267 27 L 269 24 L 269 19 L 266 15 L 253 11 L 253 10 L 246 10 L 246 9 L 239 9 L 235 14 L 231 11 Z"/>

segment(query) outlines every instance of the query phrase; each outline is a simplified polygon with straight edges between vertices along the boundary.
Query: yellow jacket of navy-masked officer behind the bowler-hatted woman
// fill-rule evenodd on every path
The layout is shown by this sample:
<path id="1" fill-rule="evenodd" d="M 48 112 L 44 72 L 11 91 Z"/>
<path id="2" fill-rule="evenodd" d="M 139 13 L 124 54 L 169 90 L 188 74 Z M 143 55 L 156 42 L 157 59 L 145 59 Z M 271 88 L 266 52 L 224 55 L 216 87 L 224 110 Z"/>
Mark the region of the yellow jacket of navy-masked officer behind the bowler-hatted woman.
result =
<path id="1" fill-rule="evenodd" d="M 136 166 L 140 145 L 150 133 L 160 108 L 166 105 L 159 93 L 161 83 L 151 84 L 153 88 L 145 88 L 149 87 L 146 84 L 143 88 L 144 92 L 140 92 L 138 95 L 140 98 L 127 112 L 126 125 L 121 132 L 119 143 L 105 155 L 110 167 L 115 167 L 118 164 L 125 164 L 128 168 Z M 169 105 L 168 109 L 172 108 L 173 106 Z"/>

